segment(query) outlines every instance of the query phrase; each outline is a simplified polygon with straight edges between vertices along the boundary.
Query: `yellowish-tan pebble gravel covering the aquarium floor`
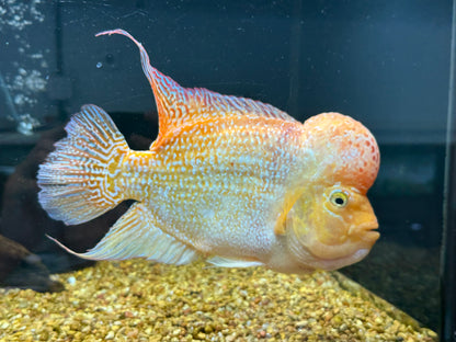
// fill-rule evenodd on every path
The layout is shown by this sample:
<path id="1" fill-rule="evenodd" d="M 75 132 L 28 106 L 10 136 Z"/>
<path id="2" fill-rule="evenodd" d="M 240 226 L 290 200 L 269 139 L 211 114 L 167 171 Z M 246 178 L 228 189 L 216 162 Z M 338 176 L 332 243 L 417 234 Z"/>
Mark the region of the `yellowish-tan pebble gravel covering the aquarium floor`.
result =
<path id="1" fill-rule="evenodd" d="M 297 276 L 133 260 L 55 278 L 65 290 L 1 289 L 0 341 L 437 339 L 337 272 Z"/>

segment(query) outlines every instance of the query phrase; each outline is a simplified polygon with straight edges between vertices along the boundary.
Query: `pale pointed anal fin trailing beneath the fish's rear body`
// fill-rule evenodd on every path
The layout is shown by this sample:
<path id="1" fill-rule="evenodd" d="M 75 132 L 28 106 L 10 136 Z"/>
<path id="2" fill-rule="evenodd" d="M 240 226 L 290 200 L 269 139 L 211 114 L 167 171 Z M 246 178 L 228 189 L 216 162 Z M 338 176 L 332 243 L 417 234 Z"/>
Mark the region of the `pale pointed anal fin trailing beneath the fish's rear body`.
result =
<path id="1" fill-rule="evenodd" d="M 142 203 L 133 204 L 103 239 L 86 253 L 77 253 L 57 240 L 52 240 L 71 254 L 89 260 L 145 258 L 182 265 L 198 258 L 194 249 L 162 231 L 152 213 Z"/>

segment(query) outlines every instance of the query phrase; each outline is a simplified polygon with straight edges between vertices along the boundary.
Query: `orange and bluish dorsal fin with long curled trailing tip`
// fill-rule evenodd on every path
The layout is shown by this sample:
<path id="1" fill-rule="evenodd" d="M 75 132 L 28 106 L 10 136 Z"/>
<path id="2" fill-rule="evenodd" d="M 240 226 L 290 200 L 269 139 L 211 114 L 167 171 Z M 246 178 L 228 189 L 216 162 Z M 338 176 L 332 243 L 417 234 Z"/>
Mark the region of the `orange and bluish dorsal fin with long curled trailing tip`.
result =
<path id="1" fill-rule="evenodd" d="M 183 88 L 150 65 L 146 49 L 128 32 L 117 29 L 100 32 L 96 36 L 105 34 L 127 36 L 139 48 L 142 71 L 152 87 L 157 103 L 159 115 L 159 136 L 157 141 L 160 140 L 160 137 L 168 129 L 178 127 L 187 121 L 195 121 L 206 116 L 223 117 L 250 114 L 296 122 L 287 113 L 277 110 L 271 104 L 244 98 L 221 95 L 204 88 Z"/>

